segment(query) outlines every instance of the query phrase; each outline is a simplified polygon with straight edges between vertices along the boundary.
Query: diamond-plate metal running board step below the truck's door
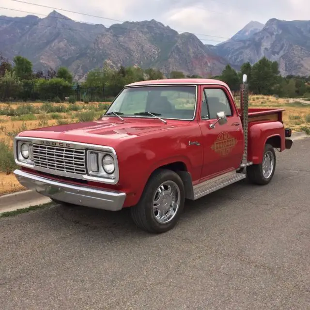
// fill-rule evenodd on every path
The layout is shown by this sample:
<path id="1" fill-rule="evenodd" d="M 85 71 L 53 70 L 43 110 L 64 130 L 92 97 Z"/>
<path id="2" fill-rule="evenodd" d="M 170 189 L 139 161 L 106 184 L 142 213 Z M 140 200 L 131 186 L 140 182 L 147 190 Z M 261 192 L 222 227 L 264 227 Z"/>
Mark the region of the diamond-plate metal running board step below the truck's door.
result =
<path id="1" fill-rule="evenodd" d="M 193 186 L 194 200 L 246 178 L 245 173 L 228 172 Z"/>

